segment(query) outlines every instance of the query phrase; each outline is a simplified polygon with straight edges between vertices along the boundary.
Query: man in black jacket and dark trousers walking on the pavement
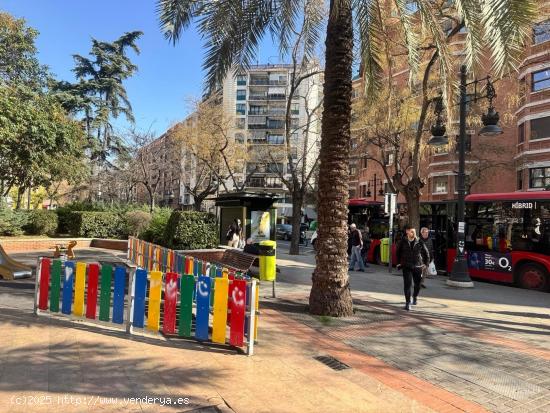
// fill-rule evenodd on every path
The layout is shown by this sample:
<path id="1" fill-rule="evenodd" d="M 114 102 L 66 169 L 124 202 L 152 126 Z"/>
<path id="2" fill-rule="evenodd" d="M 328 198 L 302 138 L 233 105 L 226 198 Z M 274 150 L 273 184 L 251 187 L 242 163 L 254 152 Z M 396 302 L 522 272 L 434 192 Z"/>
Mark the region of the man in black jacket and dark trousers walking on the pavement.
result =
<path id="1" fill-rule="evenodd" d="M 414 282 L 412 305 L 416 305 L 420 293 L 422 271 L 429 264 L 430 253 L 426 245 L 416 237 L 410 225 L 405 226 L 406 236 L 397 245 L 397 267 L 403 270 L 405 310 L 411 309 L 411 285 Z"/>

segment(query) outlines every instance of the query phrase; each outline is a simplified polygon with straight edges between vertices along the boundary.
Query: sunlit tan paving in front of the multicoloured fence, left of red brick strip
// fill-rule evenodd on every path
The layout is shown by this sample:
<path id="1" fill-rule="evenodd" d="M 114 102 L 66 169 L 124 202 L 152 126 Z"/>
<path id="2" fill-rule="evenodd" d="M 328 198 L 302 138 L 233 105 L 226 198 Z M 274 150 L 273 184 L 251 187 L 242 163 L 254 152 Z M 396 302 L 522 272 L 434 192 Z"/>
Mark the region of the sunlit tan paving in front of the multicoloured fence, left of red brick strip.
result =
<path id="1" fill-rule="evenodd" d="M 360 370 L 334 371 L 315 360 L 331 349 L 305 346 L 304 337 L 288 331 L 302 324 L 274 310 L 261 314 L 256 353 L 247 357 L 193 341 L 130 338 L 36 317 L 33 285 L 0 281 L 2 413 L 433 411 Z M 166 405 L 168 398 L 178 404 Z"/>

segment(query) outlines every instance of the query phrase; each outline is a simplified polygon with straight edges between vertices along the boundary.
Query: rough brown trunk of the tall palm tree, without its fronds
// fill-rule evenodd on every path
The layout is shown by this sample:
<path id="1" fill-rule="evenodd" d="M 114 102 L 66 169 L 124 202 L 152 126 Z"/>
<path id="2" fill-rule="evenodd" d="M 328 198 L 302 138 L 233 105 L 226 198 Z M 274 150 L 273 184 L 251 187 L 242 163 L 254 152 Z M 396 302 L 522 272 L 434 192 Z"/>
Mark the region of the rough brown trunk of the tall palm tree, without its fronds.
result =
<path id="1" fill-rule="evenodd" d="M 335 4 L 337 3 L 337 4 Z M 331 0 L 326 39 L 317 267 L 309 296 L 312 314 L 353 314 L 348 278 L 348 161 L 353 26 L 351 0 Z"/>

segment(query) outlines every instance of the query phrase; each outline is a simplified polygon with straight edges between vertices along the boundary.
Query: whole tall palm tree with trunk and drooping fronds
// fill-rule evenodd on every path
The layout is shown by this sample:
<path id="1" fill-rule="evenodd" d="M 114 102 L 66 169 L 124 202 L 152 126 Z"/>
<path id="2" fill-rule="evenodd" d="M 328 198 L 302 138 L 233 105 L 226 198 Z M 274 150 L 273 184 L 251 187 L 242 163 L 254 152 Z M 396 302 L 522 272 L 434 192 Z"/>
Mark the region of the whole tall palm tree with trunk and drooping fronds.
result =
<path id="1" fill-rule="evenodd" d="M 513 66 L 535 13 L 534 0 L 330 0 L 319 169 L 319 250 L 309 300 L 313 314 L 346 316 L 353 312 L 346 224 L 354 46 L 358 46 L 366 91 L 375 93 L 388 70 L 391 79 L 392 68 L 385 64 L 396 31 L 404 39 L 411 78 L 415 76 L 421 50 L 410 28 L 421 24 L 437 48 L 435 60 L 442 79 L 448 79 L 449 51 L 439 18 L 449 4 L 468 29 L 470 64 L 489 50 L 496 71 Z M 193 21 L 198 22 L 208 47 L 204 61 L 207 84 L 215 89 L 232 66 L 250 64 L 264 35 L 271 34 L 285 51 L 298 18 L 312 7 L 322 6 L 323 2 L 316 0 L 158 0 L 157 11 L 166 38 L 174 43 Z M 388 27 L 382 18 L 387 13 L 395 15 L 394 27 Z M 319 30 L 319 25 L 311 30 Z"/>

